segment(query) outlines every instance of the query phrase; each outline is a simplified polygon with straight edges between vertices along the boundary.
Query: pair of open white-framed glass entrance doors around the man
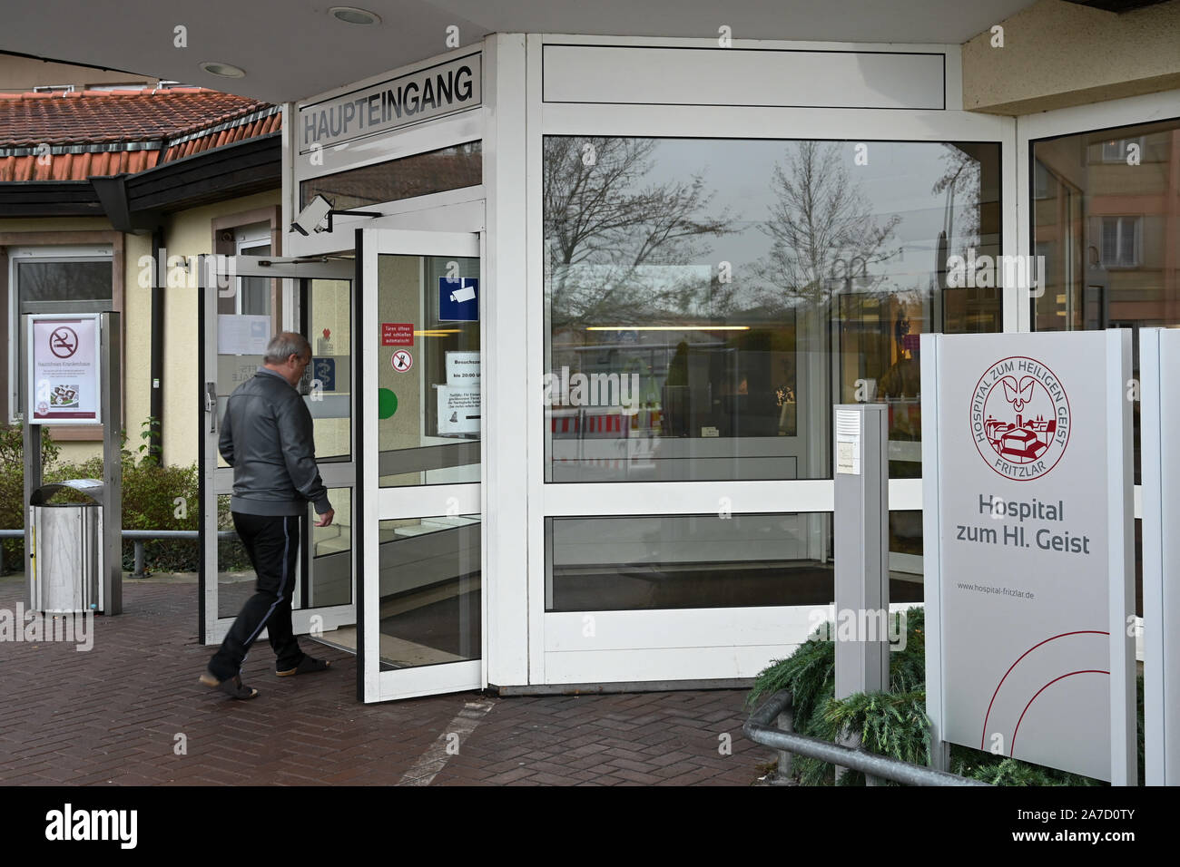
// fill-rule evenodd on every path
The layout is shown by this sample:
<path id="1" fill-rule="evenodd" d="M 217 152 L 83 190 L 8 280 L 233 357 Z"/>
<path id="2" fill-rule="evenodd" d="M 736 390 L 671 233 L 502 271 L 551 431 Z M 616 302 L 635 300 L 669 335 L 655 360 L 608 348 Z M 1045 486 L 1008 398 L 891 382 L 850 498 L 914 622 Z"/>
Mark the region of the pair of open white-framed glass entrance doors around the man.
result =
<path id="1" fill-rule="evenodd" d="M 478 291 L 479 235 L 376 229 L 355 243 L 334 261 L 219 261 L 203 289 L 202 635 L 219 641 L 254 591 L 218 432 L 229 394 L 263 363 L 280 318 L 242 314 L 228 298 L 284 281 L 295 309 L 283 318 L 313 348 L 301 390 L 335 510 L 317 527 L 309 504 L 302 521 L 295 631 L 360 651 L 365 701 L 478 689 L 480 328 L 474 297 L 447 302 Z M 381 327 L 367 333 L 359 322 Z"/>

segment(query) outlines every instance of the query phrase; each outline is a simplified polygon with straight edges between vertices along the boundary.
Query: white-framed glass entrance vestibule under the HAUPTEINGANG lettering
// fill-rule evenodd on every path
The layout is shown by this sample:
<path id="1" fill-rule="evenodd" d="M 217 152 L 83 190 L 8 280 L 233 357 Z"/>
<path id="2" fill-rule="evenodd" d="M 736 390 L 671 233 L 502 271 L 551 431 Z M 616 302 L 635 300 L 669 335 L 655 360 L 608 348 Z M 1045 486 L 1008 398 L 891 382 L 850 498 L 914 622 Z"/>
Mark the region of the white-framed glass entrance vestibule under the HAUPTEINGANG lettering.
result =
<path id="1" fill-rule="evenodd" d="M 833 602 L 839 402 L 889 405 L 891 598 L 920 604 L 918 341 L 1043 316 L 983 267 L 1030 251 L 1029 144 L 962 110 L 957 46 L 815 48 L 499 34 L 289 106 L 284 223 L 334 212 L 238 257 L 270 307 L 205 290 L 204 639 L 249 587 L 214 431 L 266 317 L 315 349 L 337 511 L 296 630 L 359 655 L 363 701 L 753 677 Z M 473 86 L 425 119 L 306 123 L 442 73 Z"/>

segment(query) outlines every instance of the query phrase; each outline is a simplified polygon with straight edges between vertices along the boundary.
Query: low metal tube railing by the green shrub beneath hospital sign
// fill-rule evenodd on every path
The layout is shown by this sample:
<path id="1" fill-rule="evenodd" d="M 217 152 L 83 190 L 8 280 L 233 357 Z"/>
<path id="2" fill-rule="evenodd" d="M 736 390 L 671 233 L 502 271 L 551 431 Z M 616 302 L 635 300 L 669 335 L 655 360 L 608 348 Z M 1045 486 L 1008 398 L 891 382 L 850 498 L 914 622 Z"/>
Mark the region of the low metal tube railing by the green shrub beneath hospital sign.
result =
<path id="1" fill-rule="evenodd" d="M 794 731 L 792 710 L 791 690 L 779 690 L 750 714 L 749 720 L 742 725 L 742 733 L 754 743 L 773 747 L 779 751 L 779 769 L 771 780 L 772 784 L 791 783 L 791 757 L 794 754 L 819 758 L 840 768 L 859 770 L 865 775 L 866 786 L 879 786 L 881 780 L 892 780 L 906 786 L 990 786 L 979 780 L 968 780 L 957 774 L 903 762 L 900 758 L 879 756 L 863 748 L 845 747 L 798 735 Z"/>

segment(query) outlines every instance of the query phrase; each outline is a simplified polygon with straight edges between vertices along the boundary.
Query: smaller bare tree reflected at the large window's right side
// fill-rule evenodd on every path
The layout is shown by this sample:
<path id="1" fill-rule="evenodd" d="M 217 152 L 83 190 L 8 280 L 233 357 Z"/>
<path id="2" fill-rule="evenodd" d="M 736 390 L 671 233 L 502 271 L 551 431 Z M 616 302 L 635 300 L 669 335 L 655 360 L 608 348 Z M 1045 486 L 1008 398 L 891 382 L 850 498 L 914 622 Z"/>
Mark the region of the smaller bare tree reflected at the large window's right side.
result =
<path id="1" fill-rule="evenodd" d="M 847 159 L 835 143 L 799 142 L 785 164 L 775 164 L 771 190 L 776 202 L 761 225 L 772 241 L 755 270 L 774 287 L 760 293 L 768 309 L 822 303 L 858 278 L 871 290 L 884 276 L 871 267 L 897 255 L 886 249 L 902 218 L 884 224 L 870 210 L 860 184 L 848 179 Z"/>

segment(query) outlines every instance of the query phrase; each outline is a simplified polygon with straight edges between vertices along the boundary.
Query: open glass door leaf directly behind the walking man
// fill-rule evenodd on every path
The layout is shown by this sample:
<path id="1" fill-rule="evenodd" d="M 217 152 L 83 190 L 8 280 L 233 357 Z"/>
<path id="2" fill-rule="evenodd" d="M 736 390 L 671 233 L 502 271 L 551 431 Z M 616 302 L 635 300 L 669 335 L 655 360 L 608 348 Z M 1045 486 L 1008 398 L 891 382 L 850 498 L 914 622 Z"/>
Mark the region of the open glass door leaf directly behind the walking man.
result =
<path id="1" fill-rule="evenodd" d="M 352 262 L 295 262 L 234 256 L 203 260 L 198 328 L 201 440 L 201 604 L 205 644 L 225 636 L 255 592 L 256 576 L 230 514 L 234 468 L 218 452 L 229 395 L 254 376 L 270 337 L 282 330 L 278 281 L 293 280 L 297 310 L 288 321 L 312 344 L 313 361 L 300 392 L 312 413 L 316 464 L 335 510 L 327 527 L 314 526 L 308 504 L 300 531 L 300 576 L 291 598 L 296 635 L 313 635 L 355 649 L 353 580 Z M 264 638 L 260 636 L 260 639 Z"/>

